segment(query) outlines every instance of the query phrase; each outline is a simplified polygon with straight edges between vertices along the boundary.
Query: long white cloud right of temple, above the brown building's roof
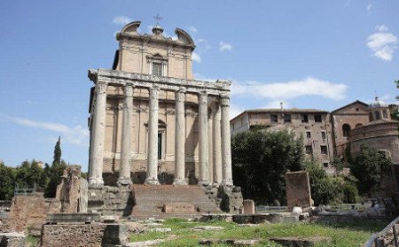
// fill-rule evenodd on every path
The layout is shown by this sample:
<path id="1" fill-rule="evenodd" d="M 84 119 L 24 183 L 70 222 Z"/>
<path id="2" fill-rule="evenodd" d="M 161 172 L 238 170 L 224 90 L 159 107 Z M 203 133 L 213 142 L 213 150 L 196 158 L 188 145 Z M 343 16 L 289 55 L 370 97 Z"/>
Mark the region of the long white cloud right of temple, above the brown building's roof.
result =
<path id="1" fill-rule="evenodd" d="M 232 96 L 254 96 L 274 100 L 298 96 L 322 96 L 333 100 L 346 97 L 348 86 L 308 77 L 300 81 L 262 83 L 257 81 L 233 82 Z"/>

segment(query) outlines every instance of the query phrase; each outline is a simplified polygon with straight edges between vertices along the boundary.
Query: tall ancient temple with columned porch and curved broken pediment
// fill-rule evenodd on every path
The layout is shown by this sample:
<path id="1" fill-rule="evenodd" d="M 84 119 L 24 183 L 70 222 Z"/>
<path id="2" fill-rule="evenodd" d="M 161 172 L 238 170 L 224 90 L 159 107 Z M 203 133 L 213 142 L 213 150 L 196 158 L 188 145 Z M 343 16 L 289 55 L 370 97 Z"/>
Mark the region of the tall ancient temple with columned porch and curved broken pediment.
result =
<path id="1" fill-rule="evenodd" d="M 188 198 L 213 189 L 209 192 L 213 196 L 204 194 L 205 198 L 214 197 L 223 205 L 216 194 L 239 192 L 231 175 L 231 81 L 193 80 L 195 44 L 184 30 L 176 28 L 177 38 L 172 39 L 159 25 L 152 35 L 139 34 L 139 26 L 139 21 L 131 22 L 116 35 L 119 50 L 113 69 L 89 71 L 95 84 L 89 111 L 89 207 L 106 204 L 97 198 L 109 193 L 95 189 L 118 185 L 117 192 L 108 190 L 120 193 L 132 183 L 136 204 L 139 193 L 151 194 L 155 189 L 149 188 L 164 184 L 158 199 L 161 191 L 171 200 L 178 193 Z M 196 188 L 187 186 L 178 192 L 176 186 L 182 185 Z M 197 185 L 207 189 L 198 190 Z M 172 190 L 167 192 L 168 188 Z M 177 194 L 166 196 L 169 192 Z M 240 202 L 237 195 L 224 197 L 224 206 L 230 208 L 231 200 Z"/>

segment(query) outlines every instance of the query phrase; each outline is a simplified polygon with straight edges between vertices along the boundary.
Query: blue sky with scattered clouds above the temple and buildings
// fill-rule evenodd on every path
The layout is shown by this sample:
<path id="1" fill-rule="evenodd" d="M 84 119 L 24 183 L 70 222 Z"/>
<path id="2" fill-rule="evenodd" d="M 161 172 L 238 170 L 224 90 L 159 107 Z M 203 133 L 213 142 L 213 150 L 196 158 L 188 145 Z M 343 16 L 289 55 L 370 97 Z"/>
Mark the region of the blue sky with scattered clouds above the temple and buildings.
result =
<path id="1" fill-rule="evenodd" d="M 186 30 L 196 79 L 233 81 L 232 115 L 277 107 L 331 111 L 377 95 L 395 102 L 399 1 L 0 2 L 0 159 L 88 163 L 89 68 L 110 68 L 114 34 Z"/>

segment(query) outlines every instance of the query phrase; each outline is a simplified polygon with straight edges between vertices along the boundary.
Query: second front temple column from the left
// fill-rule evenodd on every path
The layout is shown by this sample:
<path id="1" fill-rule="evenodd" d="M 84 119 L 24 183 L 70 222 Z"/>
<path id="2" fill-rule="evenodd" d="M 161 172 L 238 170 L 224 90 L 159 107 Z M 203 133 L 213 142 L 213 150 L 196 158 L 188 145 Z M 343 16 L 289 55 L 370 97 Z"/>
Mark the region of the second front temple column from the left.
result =
<path id="1" fill-rule="evenodd" d="M 131 117 L 133 114 L 133 84 L 127 83 L 124 88 L 123 119 L 121 135 L 121 164 L 119 167 L 118 184 L 131 184 L 130 158 L 131 158 Z"/>

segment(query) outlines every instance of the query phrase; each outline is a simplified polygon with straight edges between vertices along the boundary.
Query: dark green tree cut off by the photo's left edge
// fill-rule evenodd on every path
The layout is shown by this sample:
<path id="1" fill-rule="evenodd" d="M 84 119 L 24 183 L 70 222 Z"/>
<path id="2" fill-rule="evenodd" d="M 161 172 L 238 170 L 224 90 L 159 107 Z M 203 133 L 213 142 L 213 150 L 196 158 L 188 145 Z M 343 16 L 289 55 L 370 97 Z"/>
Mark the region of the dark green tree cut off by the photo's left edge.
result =
<path id="1" fill-rule="evenodd" d="M 14 196 L 15 169 L 0 161 L 0 200 L 11 200 Z"/>

